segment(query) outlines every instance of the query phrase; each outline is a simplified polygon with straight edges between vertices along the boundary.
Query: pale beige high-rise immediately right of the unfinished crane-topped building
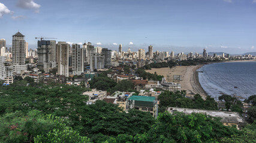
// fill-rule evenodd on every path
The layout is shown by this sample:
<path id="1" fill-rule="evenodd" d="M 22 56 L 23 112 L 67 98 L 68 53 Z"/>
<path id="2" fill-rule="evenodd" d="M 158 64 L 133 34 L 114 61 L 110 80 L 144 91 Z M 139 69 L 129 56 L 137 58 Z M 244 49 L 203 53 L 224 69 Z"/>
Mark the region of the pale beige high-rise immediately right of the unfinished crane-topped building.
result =
<path id="1" fill-rule="evenodd" d="M 57 59 L 58 59 L 58 74 L 69 76 L 68 70 L 68 55 L 70 50 L 70 44 L 66 42 L 58 42 L 57 43 Z"/>

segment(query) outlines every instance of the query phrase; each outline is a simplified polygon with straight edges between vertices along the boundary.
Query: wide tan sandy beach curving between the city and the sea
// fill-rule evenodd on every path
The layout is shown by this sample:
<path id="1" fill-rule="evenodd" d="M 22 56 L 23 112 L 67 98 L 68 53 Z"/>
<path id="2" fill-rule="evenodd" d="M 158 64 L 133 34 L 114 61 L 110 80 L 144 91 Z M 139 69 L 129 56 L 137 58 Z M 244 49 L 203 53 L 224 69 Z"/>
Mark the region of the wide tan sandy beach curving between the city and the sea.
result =
<path id="1" fill-rule="evenodd" d="M 182 90 L 186 90 L 186 95 L 194 96 L 195 94 L 200 94 L 203 98 L 206 98 L 207 94 L 203 90 L 198 80 L 198 72 L 196 71 L 203 64 L 197 66 L 176 66 L 173 68 L 164 67 L 160 69 L 152 68 L 151 70 L 146 70 L 149 73 L 156 73 L 165 77 L 168 82 L 180 83 Z M 181 81 L 173 80 L 173 75 L 182 76 Z"/>

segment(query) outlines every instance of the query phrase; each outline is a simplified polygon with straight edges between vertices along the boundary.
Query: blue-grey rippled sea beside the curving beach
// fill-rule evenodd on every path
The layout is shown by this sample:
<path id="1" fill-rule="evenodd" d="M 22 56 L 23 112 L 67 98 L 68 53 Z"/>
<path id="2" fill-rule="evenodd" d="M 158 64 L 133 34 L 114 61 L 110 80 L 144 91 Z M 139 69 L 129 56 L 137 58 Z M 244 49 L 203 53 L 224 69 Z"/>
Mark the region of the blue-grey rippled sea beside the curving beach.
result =
<path id="1" fill-rule="evenodd" d="M 223 94 L 242 101 L 256 95 L 256 61 L 206 64 L 197 71 L 202 88 L 216 101 Z"/>

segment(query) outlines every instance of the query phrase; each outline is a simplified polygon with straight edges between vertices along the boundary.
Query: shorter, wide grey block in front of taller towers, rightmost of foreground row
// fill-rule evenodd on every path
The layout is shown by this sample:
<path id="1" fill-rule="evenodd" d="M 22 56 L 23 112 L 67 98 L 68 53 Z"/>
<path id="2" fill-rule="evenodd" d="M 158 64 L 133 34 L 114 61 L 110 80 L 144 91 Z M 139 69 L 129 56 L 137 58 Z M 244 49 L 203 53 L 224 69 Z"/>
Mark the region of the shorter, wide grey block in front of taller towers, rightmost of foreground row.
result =
<path id="1" fill-rule="evenodd" d="M 104 55 L 94 54 L 90 56 L 90 70 L 94 69 L 104 69 Z"/>

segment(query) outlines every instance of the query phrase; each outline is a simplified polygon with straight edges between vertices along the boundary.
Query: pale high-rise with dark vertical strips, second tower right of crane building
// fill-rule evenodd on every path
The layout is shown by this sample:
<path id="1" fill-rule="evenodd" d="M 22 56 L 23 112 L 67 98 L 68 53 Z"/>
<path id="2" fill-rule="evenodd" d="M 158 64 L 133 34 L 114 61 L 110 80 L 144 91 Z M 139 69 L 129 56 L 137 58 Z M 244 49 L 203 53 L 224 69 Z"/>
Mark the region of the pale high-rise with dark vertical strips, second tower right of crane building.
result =
<path id="1" fill-rule="evenodd" d="M 83 64 L 84 50 L 77 43 L 72 44 L 72 71 L 74 75 L 81 75 L 85 71 Z"/>

